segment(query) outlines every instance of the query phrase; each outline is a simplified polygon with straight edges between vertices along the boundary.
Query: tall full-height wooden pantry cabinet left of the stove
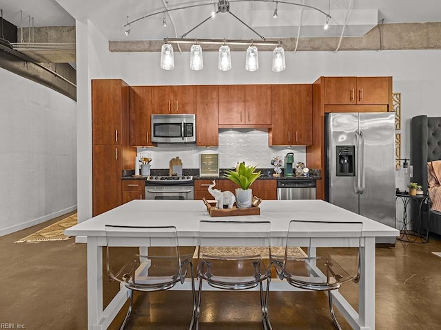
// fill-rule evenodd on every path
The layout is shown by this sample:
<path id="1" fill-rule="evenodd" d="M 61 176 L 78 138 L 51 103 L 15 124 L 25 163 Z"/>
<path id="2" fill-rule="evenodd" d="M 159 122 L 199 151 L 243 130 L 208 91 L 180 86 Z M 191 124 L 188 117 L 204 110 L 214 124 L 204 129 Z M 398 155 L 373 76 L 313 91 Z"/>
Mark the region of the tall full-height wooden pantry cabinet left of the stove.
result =
<path id="1" fill-rule="evenodd" d="M 130 87 L 121 79 L 92 80 L 92 215 L 122 203 L 123 169 L 134 167 Z"/>

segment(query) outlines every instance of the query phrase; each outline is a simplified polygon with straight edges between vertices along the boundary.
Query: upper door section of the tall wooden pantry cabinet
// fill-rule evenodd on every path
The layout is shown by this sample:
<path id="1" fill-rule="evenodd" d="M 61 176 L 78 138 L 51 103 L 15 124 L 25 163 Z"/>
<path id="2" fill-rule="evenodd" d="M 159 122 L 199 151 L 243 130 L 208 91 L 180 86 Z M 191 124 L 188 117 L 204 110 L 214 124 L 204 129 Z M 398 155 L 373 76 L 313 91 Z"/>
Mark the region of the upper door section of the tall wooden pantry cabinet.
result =
<path id="1" fill-rule="evenodd" d="M 92 144 L 121 144 L 128 88 L 119 79 L 92 80 Z"/>

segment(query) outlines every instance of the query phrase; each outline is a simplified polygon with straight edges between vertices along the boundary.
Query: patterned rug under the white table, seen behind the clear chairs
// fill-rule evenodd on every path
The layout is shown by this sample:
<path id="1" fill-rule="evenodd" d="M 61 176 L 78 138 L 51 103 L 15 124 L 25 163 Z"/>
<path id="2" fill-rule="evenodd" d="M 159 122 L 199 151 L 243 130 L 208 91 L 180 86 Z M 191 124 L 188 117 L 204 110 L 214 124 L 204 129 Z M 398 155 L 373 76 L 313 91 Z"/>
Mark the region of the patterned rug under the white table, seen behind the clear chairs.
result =
<path id="1" fill-rule="evenodd" d="M 193 259 L 198 259 L 198 250 L 199 247 L 196 246 L 194 250 Z M 257 254 L 262 255 L 266 253 L 265 248 L 255 247 L 255 246 L 205 246 L 202 250 L 203 254 L 208 254 L 210 256 L 254 256 Z M 273 256 L 280 256 L 283 258 L 285 256 L 285 247 L 284 246 L 271 246 L 271 254 Z M 293 246 L 288 248 L 288 256 L 307 256 L 302 249 Z M 268 258 L 266 256 L 266 258 Z"/>

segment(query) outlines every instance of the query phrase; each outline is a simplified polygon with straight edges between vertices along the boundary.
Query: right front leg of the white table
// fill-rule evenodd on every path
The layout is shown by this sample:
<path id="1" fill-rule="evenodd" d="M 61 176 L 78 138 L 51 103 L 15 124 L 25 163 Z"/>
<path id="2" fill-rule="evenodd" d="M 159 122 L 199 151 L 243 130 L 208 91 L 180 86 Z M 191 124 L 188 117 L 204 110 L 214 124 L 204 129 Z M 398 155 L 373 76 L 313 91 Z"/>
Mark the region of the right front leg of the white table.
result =
<path id="1" fill-rule="evenodd" d="M 359 325 L 375 330 L 375 237 L 365 237 L 360 253 Z"/>

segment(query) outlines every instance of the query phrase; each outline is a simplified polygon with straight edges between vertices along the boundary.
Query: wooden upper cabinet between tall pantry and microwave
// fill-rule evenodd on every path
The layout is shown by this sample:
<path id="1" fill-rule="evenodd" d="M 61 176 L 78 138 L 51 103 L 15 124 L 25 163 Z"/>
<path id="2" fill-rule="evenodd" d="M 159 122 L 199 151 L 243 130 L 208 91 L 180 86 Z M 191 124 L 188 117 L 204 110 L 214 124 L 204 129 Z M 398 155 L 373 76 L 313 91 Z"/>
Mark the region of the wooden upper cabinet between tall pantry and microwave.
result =
<path id="1" fill-rule="evenodd" d="M 152 87 L 130 89 L 130 145 L 153 146 L 151 138 Z"/>

